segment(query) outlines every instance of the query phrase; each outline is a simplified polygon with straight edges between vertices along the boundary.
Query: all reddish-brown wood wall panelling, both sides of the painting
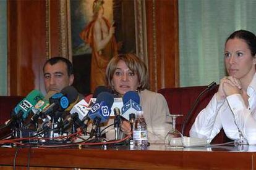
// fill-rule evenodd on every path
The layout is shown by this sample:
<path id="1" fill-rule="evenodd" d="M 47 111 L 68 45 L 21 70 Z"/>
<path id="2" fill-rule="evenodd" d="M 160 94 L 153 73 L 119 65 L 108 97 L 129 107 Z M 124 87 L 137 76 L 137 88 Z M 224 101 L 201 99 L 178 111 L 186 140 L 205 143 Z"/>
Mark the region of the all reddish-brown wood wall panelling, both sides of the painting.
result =
<path id="1" fill-rule="evenodd" d="M 9 95 L 27 95 L 32 89 L 45 91 L 43 63 L 46 40 L 49 56 L 60 55 L 59 2 L 57 0 L 8 1 Z M 151 89 L 179 86 L 177 0 L 146 3 L 148 70 Z M 46 30 L 49 6 L 49 36 Z"/>

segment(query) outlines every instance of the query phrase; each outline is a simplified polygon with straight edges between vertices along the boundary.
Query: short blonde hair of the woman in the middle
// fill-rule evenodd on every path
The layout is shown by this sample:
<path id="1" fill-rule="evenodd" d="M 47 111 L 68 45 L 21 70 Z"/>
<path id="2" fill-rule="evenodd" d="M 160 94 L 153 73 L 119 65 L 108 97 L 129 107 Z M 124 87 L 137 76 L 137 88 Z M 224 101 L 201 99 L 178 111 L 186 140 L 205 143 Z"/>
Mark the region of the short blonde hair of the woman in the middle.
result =
<path id="1" fill-rule="evenodd" d="M 137 74 L 139 79 L 139 87 L 137 90 L 143 91 L 149 88 L 148 84 L 148 71 L 145 63 L 135 54 L 119 54 L 114 56 L 108 63 L 106 68 L 106 81 L 108 86 L 113 88 L 113 76 L 116 71 L 117 63 L 122 60 L 126 63 L 127 67 Z"/>

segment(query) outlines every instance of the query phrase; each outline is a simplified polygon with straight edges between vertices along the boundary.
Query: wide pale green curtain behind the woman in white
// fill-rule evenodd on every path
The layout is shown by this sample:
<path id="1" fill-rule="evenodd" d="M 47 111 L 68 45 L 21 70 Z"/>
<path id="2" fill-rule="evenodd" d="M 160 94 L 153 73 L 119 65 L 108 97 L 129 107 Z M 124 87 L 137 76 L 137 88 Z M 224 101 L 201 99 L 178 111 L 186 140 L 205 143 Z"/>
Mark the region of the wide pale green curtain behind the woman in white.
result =
<path id="1" fill-rule="evenodd" d="M 180 84 L 220 82 L 224 42 L 235 30 L 256 33 L 255 0 L 179 0 Z"/>

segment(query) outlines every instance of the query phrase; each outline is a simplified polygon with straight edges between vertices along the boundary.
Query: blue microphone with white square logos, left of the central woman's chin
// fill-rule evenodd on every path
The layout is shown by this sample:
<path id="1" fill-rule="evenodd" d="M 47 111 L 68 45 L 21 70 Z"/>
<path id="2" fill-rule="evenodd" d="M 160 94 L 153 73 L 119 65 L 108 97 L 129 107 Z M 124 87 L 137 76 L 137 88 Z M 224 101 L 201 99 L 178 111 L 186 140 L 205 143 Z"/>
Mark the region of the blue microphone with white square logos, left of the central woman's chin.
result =
<path id="1" fill-rule="evenodd" d="M 100 123 L 105 123 L 108 121 L 113 103 L 114 97 L 109 92 L 101 92 L 98 95 L 95 104 L 88 113 L 88 117 L 93 120 L 90 138 L 94 136 L 96 128 Z"/>

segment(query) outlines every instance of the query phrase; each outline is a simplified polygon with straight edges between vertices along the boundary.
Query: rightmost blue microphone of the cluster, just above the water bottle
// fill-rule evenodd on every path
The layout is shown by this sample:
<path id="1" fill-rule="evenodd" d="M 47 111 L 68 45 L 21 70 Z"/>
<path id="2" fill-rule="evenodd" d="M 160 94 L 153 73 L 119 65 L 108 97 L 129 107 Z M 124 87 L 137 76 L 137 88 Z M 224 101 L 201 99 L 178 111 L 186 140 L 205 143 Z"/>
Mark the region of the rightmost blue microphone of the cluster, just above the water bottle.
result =
<path id="1" fill-rule="evenodd" d="M 137 92 L 129 91 L 122 97 L 124 106 L 122 107 L 122 117 L 129 121 L 129 115 L 131 113 L 137 113 L 137 111 L 142 110 L 140 106 L 140 97 Z"/>

